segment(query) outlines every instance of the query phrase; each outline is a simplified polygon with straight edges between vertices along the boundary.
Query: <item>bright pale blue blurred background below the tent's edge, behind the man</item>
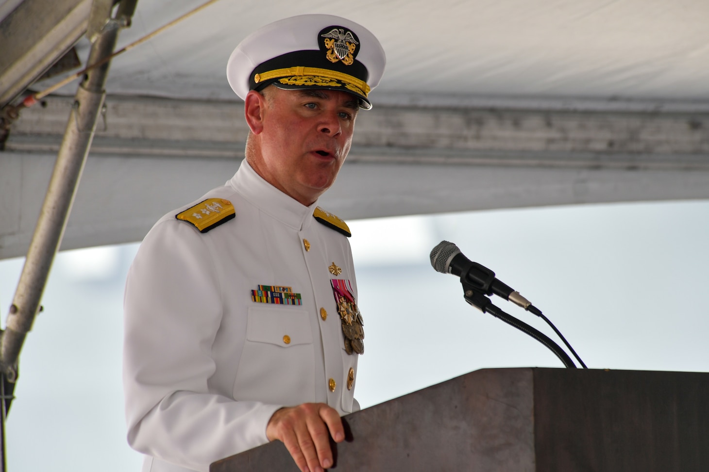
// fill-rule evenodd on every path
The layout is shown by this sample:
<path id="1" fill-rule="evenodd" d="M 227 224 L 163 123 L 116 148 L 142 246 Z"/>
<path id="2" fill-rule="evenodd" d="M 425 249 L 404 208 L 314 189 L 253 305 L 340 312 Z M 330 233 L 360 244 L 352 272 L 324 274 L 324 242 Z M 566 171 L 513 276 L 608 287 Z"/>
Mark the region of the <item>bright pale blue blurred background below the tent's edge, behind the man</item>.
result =
<path id="1" fill-rule="evenodd" d="M 363 408 L 476 369 L 562 367 L 541 344 L 467 305 L 459 281 L 431 268 L 430 249 L 443 239 L 529 298 L 591 368 L 709 371 L 708 201 L 349 223 L 366 333 Z M 125 443 L 121 390 L 123 283 L 137 247 L 57 257 L 21 354 L 9 470 L 140 470 Z M 3 322 L 22 262 L 0 261 Z M 556 340 L 533 315 L 493 303 Z"/>

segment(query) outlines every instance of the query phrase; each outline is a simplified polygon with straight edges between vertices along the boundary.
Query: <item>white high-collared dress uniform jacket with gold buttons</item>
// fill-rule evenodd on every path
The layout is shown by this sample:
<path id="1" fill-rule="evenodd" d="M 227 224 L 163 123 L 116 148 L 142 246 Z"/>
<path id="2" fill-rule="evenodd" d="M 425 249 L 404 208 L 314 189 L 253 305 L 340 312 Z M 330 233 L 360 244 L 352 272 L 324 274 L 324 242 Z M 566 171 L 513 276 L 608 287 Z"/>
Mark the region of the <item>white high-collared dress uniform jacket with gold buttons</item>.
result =
<path id="1" fill-rule="evenodd" d="M 206 233 L 175 218 L 206 198 L 233 203 L 235 218 Z M 347 237 L 246 160 L 199 201 L 152 227 L 125 286 L 128 442 L 146 455 L 143 471 L 207 471 L 268 442 L 284 405 L 359 409 L 347 388 L 357 354 L 345 352 L 330 285 L 347 279 L 357 297 Z M 330 274 L 333 263 L 342 274 Z M 259 285 L 291 287 L 302 305 L 252 301 Z"/>

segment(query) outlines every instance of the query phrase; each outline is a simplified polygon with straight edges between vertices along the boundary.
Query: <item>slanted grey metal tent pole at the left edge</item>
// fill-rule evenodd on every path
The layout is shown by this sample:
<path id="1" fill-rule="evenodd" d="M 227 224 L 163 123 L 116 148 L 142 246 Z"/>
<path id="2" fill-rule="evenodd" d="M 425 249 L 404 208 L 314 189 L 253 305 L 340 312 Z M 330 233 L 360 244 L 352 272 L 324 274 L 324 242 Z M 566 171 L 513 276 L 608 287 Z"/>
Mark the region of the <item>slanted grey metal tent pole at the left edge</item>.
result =
<path id="1" fill-rule="evenodd" d="M 101 11 L 104 19 L 98 18 L 103 24 L 91 38 L 89 64 L 105 60 L 113 53 L 118 40 L 118 32 L 130 24 L 130 17 L 135 11 L 137 0 L 123 0 L 118 7 L 116 16 L 111 18 L 112 1 L 94 0 L 94 8 Z M 94 13 L 92 11 L 92 13 Z M 96 21 L 94 18 L 90 21 Z M 94 23 L 95 24 L 95 23 Z M 94 139 L 96 122 L 104 106 L 106 77 L 108 66 L 106 61 L 100 67 L 91 69 L 84 75 L 82 83 L 74 98 L 72 111 L 57 154 L 52 179 L 40 211 L 35 227 L 35 233 L 27 252 L 25 265 L 22 269 L 15 296 L 7 317 L 6 329 L 0 337 L 0 396 L 6 395 L 6 384 L 17 380 L 18 356 L 27 333 L 32 328 L 35 316 L 40 310 L 40 300 L 47 282 L 50 268 L 57 249 L 59 249 L 76 194 L 79 179 L 86 157 L 89 154 L 91 141 Z M 5 427 L 6 398 L 0 399 L 1 411 L 0 438 L 2 441 L 0 465 L 6 471 Z"/>

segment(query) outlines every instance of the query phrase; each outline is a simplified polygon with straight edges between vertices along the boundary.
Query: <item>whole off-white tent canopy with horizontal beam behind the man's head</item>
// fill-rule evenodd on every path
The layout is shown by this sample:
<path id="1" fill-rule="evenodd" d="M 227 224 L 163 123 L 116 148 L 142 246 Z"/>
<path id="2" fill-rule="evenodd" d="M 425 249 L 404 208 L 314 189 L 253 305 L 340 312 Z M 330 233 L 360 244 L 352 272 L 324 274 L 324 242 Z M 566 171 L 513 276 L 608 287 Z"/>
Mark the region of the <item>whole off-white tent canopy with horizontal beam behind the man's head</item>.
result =
<path id="1" fill-rule="evenodd" d="M 119 47 L 200 3 L 140 0 Z M 21 18 L 31 4 L 0 3 L 0 33 L 32 24 Z M 76 18 L 85 29 L 90 6 L 45 4 L 52 34 L 79 28 Z M 62 247 L 140 240 L 160 215 L 228 179 L 246 128 L 225 62 L 255 28 L 299 13 L 362 23 L 388 57 L 374 109 L 360 113 L 348 164 L 323 197 L 342 218 L 709 198 L 705 1 L 221 0 L 113 60 Z M 13 54 L 28 62 L 49 35 L 22 31 L 0 36 L 0 64 Z M 82 62 L 88 45 L 77 43 Z M 0 68 L 0 93 L 20 63 Z M 28 246 L 72 103 L 62 95 L 75 86 L 11 125 L 0 258 Z"/>

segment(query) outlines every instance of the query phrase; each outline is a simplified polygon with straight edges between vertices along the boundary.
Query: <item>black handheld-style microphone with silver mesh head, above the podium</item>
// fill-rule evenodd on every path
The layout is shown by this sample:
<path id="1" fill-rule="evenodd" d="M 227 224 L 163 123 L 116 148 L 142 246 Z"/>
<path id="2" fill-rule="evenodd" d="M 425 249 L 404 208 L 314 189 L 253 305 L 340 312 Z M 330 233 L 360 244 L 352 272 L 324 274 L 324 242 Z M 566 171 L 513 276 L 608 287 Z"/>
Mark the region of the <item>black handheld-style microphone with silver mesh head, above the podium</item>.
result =
<path id="1" fill-rule="evenodd" d="M 431 249 L 431 266 L 442 274 L 459 276 L 461 281 L 479 288 L 486 295 L 496 295 L 529 310 L 532 302 L 506 283 L 495 278 L 495 273 L 465 257 L 452 242 L 441 241 Z M 533 307 L 532 307 L 533 308 Z"/>

